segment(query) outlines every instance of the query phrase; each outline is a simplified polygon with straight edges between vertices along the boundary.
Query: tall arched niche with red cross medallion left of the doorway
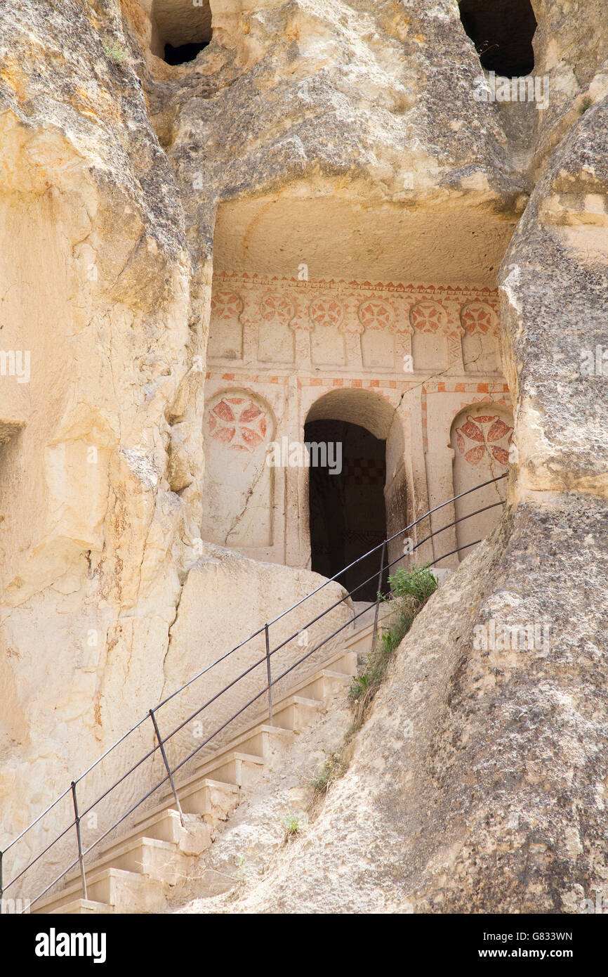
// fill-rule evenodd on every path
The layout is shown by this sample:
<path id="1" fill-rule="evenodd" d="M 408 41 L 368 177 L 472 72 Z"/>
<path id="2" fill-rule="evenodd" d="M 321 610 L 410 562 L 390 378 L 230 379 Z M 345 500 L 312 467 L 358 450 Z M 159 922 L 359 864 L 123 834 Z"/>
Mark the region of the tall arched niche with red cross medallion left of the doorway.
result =
<path id="1" fill-rule="evenodd" d="M 204 539 L 245 550 L 272 545 L 273 470 L 265 459 L 274 431 L 269 404 L 247 390 L 223 390 L 207 404 Z"/>

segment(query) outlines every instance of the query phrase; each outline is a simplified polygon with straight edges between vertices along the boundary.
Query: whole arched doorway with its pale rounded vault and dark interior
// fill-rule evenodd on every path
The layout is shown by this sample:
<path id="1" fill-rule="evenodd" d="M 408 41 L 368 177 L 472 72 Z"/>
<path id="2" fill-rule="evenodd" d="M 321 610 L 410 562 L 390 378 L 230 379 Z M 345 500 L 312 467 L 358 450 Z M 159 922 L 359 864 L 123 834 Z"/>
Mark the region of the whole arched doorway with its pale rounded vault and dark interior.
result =
<path id="1" fill-rule="evenodd" d="M 334 391 L 312 404 L 304 441 L 311 462 L 310 565 L 316 573 L 334 576 L 405 525 L 401 421 L 377 394 Z M 331 459 L 332 466 L 315 465 L 315 456 Z M 378 550 L 341 573 L 339 581 L 348 591 L 357 588 L 353 600 L 376 599 L 381 558 Z"/>

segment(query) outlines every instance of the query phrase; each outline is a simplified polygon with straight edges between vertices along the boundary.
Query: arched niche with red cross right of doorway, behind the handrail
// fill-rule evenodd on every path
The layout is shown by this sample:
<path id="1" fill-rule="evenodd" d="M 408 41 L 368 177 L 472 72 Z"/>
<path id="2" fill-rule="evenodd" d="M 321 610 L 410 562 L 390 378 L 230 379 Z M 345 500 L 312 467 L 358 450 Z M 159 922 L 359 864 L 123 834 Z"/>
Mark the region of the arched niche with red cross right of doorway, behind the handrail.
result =
<path id="1" fill-rule="evenodd" d="M 451 429 L 455 495 L 507 473 L 512 434 L 513 416 L 505 404 L 471 404 L 457 414 Z M 461 559 L 470 552 L 469 544 L 483 539 L 497 525 L 503 507 L 494 503 L 506 498 L 507 479 L 503 479 L 456 500 L 456 519 L 470 516 L 456 527 Z M 491 505 L 494 507 L 486 509 Z"/>

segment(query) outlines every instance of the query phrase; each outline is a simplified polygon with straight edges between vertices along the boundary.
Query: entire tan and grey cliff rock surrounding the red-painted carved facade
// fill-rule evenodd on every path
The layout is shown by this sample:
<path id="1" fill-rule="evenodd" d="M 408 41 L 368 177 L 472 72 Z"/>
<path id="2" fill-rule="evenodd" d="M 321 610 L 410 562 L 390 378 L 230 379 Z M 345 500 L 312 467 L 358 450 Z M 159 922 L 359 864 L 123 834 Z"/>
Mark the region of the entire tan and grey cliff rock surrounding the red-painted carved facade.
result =
<path id="1" fill-rule="evenodd" d="M 230 911 L 578 912 L 608 897 L 603 5 L 534 0 L 538 103 L 485 97 L 454 0 L 198 6 L 2 15 L 0 847 L 196 670 L 199 604 L 219 656 L 317 579 L 201 543 L 212 276 L 498 283 L 503 521 L 417 620 L 289 864 Z M 508 427 L 501 383 L 461 406 L 500 399 Z M 414 386 L 387 399 L 406 434 L 434 392 Z M 429 507 L 433 450 L 391 512 Z M 304 567 L 305 540 L 255 539 Z M 250 591 L 236 621 L 214 604 Z"/>

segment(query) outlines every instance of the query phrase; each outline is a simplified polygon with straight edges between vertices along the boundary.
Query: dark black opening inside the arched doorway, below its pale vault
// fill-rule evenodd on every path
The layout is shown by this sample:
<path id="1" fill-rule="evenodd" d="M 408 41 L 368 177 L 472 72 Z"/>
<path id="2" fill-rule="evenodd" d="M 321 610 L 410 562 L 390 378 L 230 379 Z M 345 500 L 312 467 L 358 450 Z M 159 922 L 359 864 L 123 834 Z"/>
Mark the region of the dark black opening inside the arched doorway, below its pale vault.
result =
<path id="1" fill-rule="evenodd" d="M 334 576 L 385 539 L 386 443 L 366 428 L 335 420 L 309 421 L 304 440 L 311 445 L 334 446 L 327 456 L 342 462 L 340 471 L 334 464 L 334 473 L 328 465 L 315 467 L 315 450 L 310 451 L 311 568 Z M 322 457 L 323 452 L 319 455 Z M 381 558 L 379 550 L 338 577 L 346 590 L 358 587 L 352 595 L 354 601 L 376 600 Z M 372 579 L 363 584 L 368 577 Z M 385 578 L 382 589 L 386 589 Z"/>

